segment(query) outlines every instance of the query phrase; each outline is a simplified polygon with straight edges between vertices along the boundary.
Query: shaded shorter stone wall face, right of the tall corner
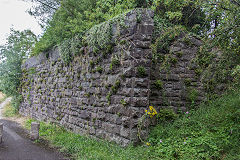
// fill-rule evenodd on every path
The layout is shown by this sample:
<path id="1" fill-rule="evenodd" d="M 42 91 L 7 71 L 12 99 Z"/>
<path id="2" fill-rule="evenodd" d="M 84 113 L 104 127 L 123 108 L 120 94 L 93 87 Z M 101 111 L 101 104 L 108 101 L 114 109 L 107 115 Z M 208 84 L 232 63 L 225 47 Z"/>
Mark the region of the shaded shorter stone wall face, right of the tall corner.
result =
<path id="1" fill-rule="evenodd" d="M 171 44 L 169 52 L 162 53 L 165 62 L 152 64 L 149 100 L 158 110 L 186 112 L 204 100 L 205 92 L 194 63 L 201 45 L 199 39 L 182 34 Z"/>

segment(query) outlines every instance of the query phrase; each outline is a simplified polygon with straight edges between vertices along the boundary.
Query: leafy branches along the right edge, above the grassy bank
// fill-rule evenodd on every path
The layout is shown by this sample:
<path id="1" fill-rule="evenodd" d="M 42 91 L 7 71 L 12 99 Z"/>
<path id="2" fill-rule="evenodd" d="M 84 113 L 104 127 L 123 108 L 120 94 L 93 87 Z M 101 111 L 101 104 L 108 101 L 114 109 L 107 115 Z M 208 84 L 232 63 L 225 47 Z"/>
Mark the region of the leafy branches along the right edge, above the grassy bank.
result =
<path id="1" fill-rule="evenodd" d="M 208 13 L 206 23 L 211 22 L 213 27 L 199 49 L 195 72 L 202 75 L 205 90 L 212 95 L 238 83 L 232 73 L 240 62 L 239 21 L 236 21 L 240 16 L 240 5 L 236 0 L 221 0 L 202 3 L 202 7 Z"/>

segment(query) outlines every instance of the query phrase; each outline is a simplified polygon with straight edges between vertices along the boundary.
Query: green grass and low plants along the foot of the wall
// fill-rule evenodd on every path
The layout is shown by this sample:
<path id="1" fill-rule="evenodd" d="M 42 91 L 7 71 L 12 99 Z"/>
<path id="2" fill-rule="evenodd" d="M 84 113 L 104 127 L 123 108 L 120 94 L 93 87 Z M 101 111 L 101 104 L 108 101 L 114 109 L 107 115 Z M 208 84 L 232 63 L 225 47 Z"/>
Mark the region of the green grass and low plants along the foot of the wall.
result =
<path id="1" fill-rule="evenodd" d="M 74 159 L 240 159 L 240 90 L 202 104 L 151 129 L 150 146 L 122 148 L 103 140 L 80 136 L 54 124 L 40 122 L 40 136 Z M 33 120 L 28 120 L 27 128 Z"/>

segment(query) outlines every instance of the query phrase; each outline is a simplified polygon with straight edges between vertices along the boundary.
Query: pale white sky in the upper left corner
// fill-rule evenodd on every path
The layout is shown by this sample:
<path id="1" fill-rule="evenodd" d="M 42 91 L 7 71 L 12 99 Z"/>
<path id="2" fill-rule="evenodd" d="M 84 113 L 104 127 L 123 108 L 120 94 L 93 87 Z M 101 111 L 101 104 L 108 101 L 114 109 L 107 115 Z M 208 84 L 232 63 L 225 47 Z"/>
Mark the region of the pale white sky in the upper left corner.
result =
<path id="1" fill-rule="evenodd" d="M 31 8 L 30 2 L 22 0 L 0 0 L 0 45 L 6 41 L 10 33 L 10 28 L 23 31 L 32 30 L 36 35 L 42 33 L 34 17 L 30 16 L 26 10 Z"/>

